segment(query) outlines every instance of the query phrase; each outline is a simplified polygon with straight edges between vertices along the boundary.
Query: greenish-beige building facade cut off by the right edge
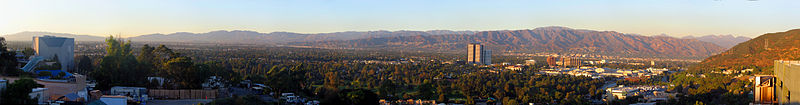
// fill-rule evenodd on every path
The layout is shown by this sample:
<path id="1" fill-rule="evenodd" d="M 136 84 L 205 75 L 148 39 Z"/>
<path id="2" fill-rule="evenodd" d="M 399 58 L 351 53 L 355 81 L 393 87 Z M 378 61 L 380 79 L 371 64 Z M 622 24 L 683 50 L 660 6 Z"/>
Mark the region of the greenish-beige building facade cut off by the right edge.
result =
<path id="1" fill-rule="evenodd" d="M 776 60 L 775 101 L 780 105 L 800 105 L 800 61 Z"/>

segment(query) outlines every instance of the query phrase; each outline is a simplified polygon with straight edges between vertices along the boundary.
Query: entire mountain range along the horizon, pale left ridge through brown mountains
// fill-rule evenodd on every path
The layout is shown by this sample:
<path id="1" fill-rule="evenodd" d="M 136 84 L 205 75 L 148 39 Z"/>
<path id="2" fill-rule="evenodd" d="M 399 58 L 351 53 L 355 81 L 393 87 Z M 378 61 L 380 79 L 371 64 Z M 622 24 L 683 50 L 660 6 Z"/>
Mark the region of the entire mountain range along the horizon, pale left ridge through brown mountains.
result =
<path id="1" fill-rule="evenodd" d="M 51 32 L 20 32 L 3 35 L 9 41 L 29 41 L 32 36 L 72 37 L 76 41 L 103 41 L 104 37 Z M 211 31 L 148 34 L 127 39 L 134 42 L 199 42 L 241 44 L 288 44 L 327 48 L 382 48 L 460 52 L 468 43 L 484 43 L 496 51 L 592 53 L 636 57 L 701 59 L 723 51 L 725 40 L 717 38 L 641 36 L 614 31 L 593 31 L 566 27 L 497 31 L 347 31 L 303 34 L 292 32 Z M 738 38 L 738 37 L 733 37 Z M 699 40 L 699 41 L 698 41 Z M 715 41 L 721 40 L 721 41 Z M 712 44 L 708 42 L 723 42 Z M 735 42 L 728 42 L 735 43 Z"/>

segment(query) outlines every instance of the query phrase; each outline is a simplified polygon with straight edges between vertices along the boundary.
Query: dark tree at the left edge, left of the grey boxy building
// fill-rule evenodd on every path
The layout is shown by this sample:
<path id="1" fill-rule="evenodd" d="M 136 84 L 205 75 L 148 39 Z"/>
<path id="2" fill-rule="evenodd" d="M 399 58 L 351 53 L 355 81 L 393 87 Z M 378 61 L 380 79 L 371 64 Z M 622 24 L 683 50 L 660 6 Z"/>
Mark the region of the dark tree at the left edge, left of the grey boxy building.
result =
<path id="1" fill-rule="evenodd" d="M 0 37 L 0 72 L 3 75 L 19 75 L 19 68 L 17 68 L 17 59 L 15 52 L 11 52 L 6 48 L 6 40 Z"/>

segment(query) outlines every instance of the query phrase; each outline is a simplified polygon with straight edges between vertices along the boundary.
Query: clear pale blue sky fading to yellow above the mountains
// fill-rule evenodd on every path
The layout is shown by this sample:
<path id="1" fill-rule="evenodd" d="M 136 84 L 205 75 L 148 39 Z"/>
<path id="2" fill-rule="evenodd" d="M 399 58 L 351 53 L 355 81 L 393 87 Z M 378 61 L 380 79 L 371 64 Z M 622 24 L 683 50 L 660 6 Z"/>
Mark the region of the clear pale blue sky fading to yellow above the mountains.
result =
<path id="1" fill-rule="evenodd" d="M 800 28 L 798 0 L 0 0 L 0 35 L 519 30 L 682 37 Z"/>

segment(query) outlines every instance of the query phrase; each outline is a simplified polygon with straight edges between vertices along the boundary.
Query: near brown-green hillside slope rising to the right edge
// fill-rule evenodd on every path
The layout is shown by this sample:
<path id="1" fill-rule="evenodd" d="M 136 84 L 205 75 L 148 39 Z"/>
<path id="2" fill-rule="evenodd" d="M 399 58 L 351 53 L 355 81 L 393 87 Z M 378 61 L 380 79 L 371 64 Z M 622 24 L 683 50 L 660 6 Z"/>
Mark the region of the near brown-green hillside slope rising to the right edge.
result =
<path id="1" fill-rule="evenodd" d="M 708 57 L 694 68 L 770 67 L 773 60 L 800 60 L 800 29 L 758 36 Z"/>

